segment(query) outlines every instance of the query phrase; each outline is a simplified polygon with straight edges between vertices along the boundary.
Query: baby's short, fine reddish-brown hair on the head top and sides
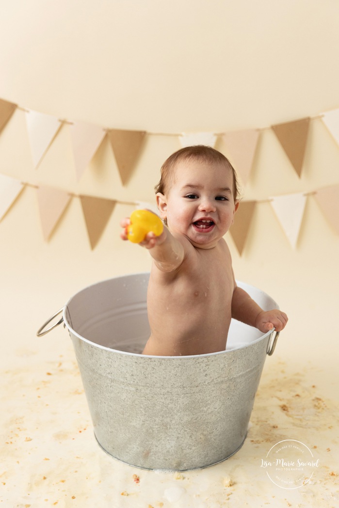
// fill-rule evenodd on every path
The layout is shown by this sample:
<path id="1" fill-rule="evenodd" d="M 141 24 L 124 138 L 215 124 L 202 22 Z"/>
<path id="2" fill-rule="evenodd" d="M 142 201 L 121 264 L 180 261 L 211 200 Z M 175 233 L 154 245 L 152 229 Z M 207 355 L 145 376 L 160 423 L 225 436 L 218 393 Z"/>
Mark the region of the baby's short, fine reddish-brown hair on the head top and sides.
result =
<path id="1" fill-rule="evenodd" d="M 234 202 L 238 200 L 239 187 L 232 164 L 221 152 L 205 145 L 187 146 L 172 153 L 161 167 L 160 182 L 155 186 L 156 193 L 166 194 L 169 192 L 171 183 L 174 181 L 175 169 L 181 161 L 201 161 L 206 164 L 218 163 L 224 165 L 233 173 L 233 199 Z"/>

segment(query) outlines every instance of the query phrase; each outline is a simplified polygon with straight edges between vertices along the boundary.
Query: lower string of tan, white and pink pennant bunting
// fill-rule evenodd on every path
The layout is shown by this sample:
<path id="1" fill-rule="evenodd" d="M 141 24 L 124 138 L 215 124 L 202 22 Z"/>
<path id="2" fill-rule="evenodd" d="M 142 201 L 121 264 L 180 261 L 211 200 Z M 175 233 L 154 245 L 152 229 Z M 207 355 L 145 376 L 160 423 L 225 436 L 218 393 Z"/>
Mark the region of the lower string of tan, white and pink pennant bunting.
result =
<path id="1" fill-rule="evenodd" d="M 43 237 L 48 241 L 72 198 L 79 198 L 92 249 L 98 244 L 115 204 L 148 208 L 157 212 L 155 205 L 141 201 L 120 201 L 97 196 L 74 194 L 47 185 L 34 185 L 0 174 L 0 220 L 9 211 L 24 187 L 36 188 Z M 314 196 L 324 216 L 339 235 L 339 184 L 312 192 L 272 196 L 265 200 L 241 201 L 230 229 L 230 235 L 241 256 L 257 204 L 270 203 L 293 248 L 296 247 L 306 199 Z"/>

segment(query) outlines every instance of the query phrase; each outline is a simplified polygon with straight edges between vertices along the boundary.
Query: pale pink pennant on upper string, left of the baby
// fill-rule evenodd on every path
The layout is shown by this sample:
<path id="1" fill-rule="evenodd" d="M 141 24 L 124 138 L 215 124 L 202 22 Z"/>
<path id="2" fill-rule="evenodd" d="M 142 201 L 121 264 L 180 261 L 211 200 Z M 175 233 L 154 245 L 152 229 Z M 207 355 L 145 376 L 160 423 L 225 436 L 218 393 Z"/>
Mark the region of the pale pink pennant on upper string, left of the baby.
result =
<path id="1" fill-rule="evenodd" d="M 71 125 L 71 138 L 75 170 L 79 180 L 101 145 L 106 132 L 98 125 L 87 122 L 75 122 Z"/>

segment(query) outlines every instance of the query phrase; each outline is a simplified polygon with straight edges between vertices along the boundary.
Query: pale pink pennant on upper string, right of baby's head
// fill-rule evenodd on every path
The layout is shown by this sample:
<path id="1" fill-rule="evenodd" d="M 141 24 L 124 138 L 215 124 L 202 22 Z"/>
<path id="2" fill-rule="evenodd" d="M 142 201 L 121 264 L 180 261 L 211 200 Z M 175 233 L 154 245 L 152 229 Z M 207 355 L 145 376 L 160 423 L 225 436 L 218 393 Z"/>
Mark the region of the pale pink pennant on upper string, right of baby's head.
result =
<path id="1" fill-rule="evenodd" d="M 223 135 L 227 155 L 232 160 L 242 182 L 248 181 L 260 131 L 248 129 L 246 131 L 227 132 Z"/>

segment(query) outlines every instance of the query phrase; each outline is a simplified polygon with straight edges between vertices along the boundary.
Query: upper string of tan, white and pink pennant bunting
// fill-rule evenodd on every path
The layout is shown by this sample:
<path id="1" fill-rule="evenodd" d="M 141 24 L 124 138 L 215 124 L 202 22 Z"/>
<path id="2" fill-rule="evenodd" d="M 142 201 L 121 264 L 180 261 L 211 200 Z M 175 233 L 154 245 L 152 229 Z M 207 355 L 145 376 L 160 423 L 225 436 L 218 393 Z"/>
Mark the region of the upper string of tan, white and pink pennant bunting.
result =
<path id="1" fill-rule="evenodd" d="M 58 119 L 55 116 L 22 108 L 0 99 L 0 133 L 16 109 L 20 109 L 25 113 L 28 139 L 35 168 L 39 166 L 60 129 L 66 124 L 71 131 L 77 179 L 81 178 L 87 165 L 107 136 L 112 146 L 123 185 L 126 185 L 130 178 L 146 135 L 176 136 L 181 146 L 196 144 L 214 146 L 217 139 L 221 137 L 226 146 L 227 155 L 231 158 L 244 184 L 246 184 L 252 169 L 260 133 L 264 130 L 271 129 L 274 132 L 299 177 L 302 172 L 311 120 L 321 118 L 334 140 L 339 144 L 339 108 L 314 117 L 301 118 L 258 129 L 221 133 L 173 134 L 109 129 L 93 123 Z"/>

